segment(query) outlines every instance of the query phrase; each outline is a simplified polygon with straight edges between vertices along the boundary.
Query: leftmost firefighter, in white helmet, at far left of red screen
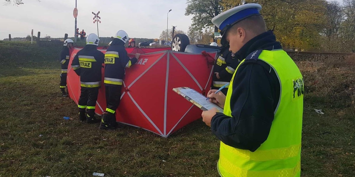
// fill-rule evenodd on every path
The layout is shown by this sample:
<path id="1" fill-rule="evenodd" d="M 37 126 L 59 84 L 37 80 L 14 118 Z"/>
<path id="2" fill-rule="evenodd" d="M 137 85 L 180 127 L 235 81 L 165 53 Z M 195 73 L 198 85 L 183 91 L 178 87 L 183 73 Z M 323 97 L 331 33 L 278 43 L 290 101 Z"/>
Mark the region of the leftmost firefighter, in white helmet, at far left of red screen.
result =
<path id="1" fill-rule="evenodd" d="M 61 70 L 62 73 L 60 74 L 60 91 L 61 95 L 66 97 L 68 94 L 65 92 L 66 87 L 66 78 L 68 72 L 68 65 L 69 65 L 69 46 L 72 46 L 74 43 L 73 40 L 67 39 L 64 41 L 64 45 L 62 50 L 60 51 L 60 63 L 61 63 Z"/>

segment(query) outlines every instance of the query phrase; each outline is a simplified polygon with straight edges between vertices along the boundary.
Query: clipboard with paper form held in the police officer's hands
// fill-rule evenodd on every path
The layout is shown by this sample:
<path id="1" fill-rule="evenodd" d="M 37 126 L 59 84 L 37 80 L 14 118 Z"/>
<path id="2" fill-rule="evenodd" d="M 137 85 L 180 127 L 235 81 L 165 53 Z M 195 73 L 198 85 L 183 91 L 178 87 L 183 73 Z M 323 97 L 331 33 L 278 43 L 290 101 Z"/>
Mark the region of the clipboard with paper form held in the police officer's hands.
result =
<path id="1" fill-rule="evenodd" d="M 207 100 L 207 97 L 197 92 L 196 90 L 191 89 L 190 87 L 178 87 L 174 88 L 173 91 L 187 99 L 187 101 L 190 101 L 192 104 L 195 104 L 203 111 L 217 108 L 219 112 L 223 113 L 223 109 L 221 107 L 210 102 Z"/>

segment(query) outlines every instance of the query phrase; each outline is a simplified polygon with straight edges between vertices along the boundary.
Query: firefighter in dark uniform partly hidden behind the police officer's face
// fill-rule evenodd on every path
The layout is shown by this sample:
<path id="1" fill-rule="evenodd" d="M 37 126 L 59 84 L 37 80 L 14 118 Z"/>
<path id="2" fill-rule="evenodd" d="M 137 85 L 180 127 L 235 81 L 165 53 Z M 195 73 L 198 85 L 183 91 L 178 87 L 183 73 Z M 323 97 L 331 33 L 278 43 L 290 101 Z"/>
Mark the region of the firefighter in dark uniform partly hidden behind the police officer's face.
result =
<path id="1" fill-rule="evenodd" d="M 211 46 L 217 46 L 217 43 L 212 42 Z M 217 55 L 216 61 L 214 62 L 212 89 L 218 90 L 220 87 L 228 84 L 232 79 L 238 64 L 239 60 L 235 59 L 234 53 L 229 51 L 229 45 L 224 44 Z M 222 93 L 224 93 L 224 95 L 227 94 L 228 87 L 229 85 L 222 89 Z"/>

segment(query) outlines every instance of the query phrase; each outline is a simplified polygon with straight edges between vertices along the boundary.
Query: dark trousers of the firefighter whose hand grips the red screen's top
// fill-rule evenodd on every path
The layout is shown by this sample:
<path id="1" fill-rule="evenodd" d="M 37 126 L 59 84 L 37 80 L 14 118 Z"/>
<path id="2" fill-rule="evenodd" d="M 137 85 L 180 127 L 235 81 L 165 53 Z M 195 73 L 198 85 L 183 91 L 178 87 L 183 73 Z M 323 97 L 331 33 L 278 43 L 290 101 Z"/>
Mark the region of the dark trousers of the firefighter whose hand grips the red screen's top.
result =
<path id="1" fill-rule="evenodd" d="M 116 113 L 116 109 L 121 101 L 121 88 L 122 86 L 105 86 L 107 112 Z"/>

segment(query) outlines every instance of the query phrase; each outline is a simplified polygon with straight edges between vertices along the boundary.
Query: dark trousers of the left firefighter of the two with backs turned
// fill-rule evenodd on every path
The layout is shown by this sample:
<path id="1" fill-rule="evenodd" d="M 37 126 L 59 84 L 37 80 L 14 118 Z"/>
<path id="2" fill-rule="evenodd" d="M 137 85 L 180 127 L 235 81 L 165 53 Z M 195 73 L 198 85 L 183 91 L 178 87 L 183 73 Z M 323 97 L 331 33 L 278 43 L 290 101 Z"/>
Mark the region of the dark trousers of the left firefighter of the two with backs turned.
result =
<path id="1" fill-rule="evenodd" d="M 88 117 L 92 117 L 95 115 L 95 105 L 97 101 L 97 95 L 99 94 L 99 87 L 97 88 L 86 88 L 81 87 L 80 98 L 78 102 L 78 107 L 81 110 L 85 110 L 89 115 Z"/>

